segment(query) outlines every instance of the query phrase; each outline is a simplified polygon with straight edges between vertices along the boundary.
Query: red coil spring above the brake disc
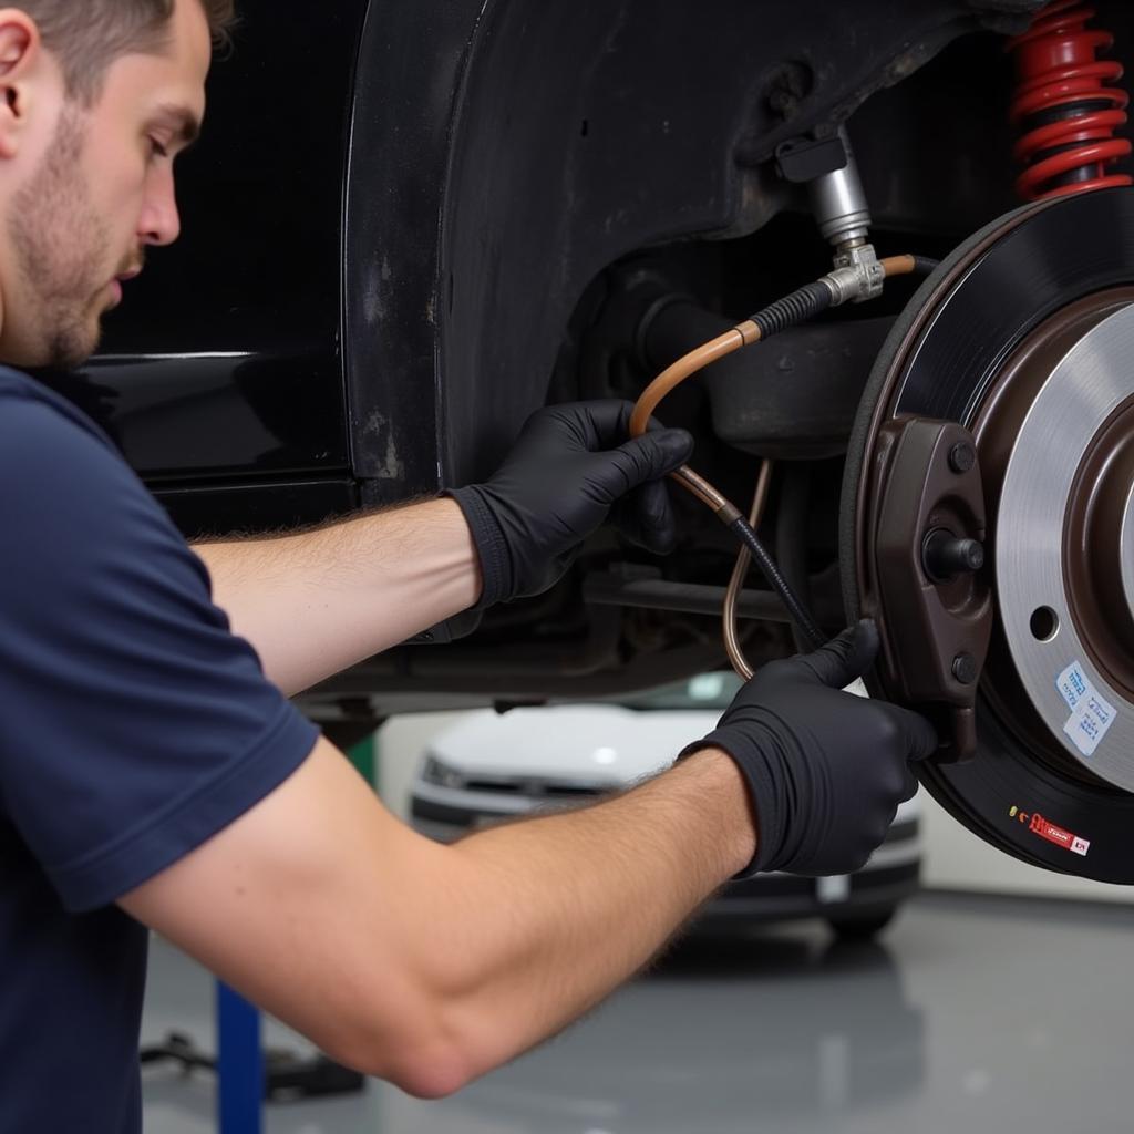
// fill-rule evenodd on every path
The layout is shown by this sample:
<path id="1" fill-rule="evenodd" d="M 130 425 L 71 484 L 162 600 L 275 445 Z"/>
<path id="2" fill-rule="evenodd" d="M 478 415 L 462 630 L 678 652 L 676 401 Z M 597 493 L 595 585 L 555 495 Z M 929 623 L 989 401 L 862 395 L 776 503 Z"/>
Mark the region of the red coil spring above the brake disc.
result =
<path id="1" fill-rule="evenodd" d="M 1057 0 L 1008 41 L 1019 84 L 1009 119 L 1024 132 L 1013 152 L 1027 167 L 1016 192 L 1025 201 L 1132 184 L 1125 174 L 1107 172 L 1131 152 L 1126 138 L 1115 137 L 1129 96 L 1107 85 L 1122 78 L 1123 67 L 1095 59 L 1115 37 L 1086 28 L 1092 16 L 1080 0 Z"/>

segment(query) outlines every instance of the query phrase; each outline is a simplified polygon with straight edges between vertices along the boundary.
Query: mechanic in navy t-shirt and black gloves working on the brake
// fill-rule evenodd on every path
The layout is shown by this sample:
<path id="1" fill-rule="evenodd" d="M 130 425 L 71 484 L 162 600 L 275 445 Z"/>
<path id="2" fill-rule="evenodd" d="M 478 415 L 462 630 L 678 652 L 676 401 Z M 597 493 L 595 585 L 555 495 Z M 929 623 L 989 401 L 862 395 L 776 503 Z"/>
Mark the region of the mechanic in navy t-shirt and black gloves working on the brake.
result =
<path id="1" fill-rule="evenodd" d="M 231 16 L 0 10 L 8 367 L 82 363 L 177 238 L 174 159 Z M 730 877 L 863 864 L 936 745 L 841 692 L 870 624 L 765 667 L 650 782 L 454 846 L 399 823 L 288 702 L 550 586 L 608 514 L 671 545 L 659 479 L 692 441 L 626 441 L 628 408 L 538 413 L 485 484 L 194 552 L 96 424 L 0 370 L 0 1129 L 139 1128 L 150 928 L 333 1058 L 434 1097 L 584 1013 Z"/>

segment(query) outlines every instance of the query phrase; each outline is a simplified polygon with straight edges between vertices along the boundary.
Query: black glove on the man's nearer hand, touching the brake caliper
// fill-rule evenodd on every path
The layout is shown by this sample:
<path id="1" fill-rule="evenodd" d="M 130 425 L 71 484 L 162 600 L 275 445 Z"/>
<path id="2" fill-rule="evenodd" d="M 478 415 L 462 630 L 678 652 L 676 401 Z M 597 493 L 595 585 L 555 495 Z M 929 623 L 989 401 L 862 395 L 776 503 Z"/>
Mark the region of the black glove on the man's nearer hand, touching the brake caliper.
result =
<path id="1" fill-rule="evenodd" d="M 877 652 L 878 629 L 864 620 L 814 653 L 764 666 L 716 730 L 682 753 L 723 748 L 747 780 L 756 854 L 739 877 L 849 874 L 917 789 L 909 761 L 937 748 L 933 727 L 906 709 L 843 692 Z"/>

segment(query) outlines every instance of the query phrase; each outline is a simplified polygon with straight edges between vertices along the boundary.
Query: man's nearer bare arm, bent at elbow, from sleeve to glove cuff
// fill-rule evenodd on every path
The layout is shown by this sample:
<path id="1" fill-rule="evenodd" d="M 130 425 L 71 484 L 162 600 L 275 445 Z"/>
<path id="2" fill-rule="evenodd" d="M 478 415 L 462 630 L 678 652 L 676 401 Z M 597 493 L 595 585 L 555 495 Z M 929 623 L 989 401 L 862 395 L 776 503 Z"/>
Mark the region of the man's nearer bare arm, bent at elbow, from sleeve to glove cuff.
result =
<path id="1" fill-rule="evenodd" d="M 332 1057 L 434 1097 L 599 1001 L 754 843 L 720 752 L 598 806 L 440 846 L 321 741 L 121 905 Z"/>

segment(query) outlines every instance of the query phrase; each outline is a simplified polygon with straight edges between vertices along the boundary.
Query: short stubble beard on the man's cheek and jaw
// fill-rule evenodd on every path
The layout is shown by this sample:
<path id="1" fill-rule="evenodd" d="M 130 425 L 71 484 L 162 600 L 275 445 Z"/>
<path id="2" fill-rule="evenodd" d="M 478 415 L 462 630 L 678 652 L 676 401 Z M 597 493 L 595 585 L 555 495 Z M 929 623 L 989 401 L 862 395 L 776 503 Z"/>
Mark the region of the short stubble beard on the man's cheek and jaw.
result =
<path id="1" fill-rule="evenodd" d="M 20 337 L 42 355 L 42 365 L 61 369 L 94 354 L 110 281 L 110 235 L 81 174 L 85 134 L 82 113 L 65 109 L 46 155 L 16 193 L 8 217 L 31 323 Z"/>

